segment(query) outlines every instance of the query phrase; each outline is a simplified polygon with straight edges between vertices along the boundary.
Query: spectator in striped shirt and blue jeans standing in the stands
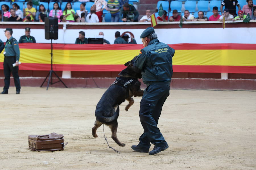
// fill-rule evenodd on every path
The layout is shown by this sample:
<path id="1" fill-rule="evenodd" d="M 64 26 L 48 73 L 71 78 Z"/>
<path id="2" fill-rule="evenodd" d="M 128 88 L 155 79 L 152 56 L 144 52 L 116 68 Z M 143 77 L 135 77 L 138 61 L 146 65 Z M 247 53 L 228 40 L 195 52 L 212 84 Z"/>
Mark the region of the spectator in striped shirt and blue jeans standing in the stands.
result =
<path id="1" fill-rule="evenodd" d="M 108 0 L 107 9 L 111 14 L 111 22 L 119 21 L 119 2 L 117 0 Z"/>

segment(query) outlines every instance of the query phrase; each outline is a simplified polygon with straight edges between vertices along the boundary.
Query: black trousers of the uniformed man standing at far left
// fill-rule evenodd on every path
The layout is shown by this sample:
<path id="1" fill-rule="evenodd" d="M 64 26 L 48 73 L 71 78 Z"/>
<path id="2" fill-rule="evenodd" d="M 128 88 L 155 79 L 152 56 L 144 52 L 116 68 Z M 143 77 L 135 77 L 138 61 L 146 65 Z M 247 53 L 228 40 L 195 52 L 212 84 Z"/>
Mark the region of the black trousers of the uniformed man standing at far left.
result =
<path id="1" fill-rule="evenodd" d="M 9 89 L 10 76 L 11 76 L 11 72 L 12 72 L 16 91 L 20 91 L 20 78 L 18 75 L 19 67 L 18 66 L 13 67 L 13 63 L 15 63 L 15 62 L 16 62 L 16 56 L 5 56 L 4 63 L 3 63 L 4 74 L 5 74 L 4 90 L 8 91 L 8 89 Z"/>

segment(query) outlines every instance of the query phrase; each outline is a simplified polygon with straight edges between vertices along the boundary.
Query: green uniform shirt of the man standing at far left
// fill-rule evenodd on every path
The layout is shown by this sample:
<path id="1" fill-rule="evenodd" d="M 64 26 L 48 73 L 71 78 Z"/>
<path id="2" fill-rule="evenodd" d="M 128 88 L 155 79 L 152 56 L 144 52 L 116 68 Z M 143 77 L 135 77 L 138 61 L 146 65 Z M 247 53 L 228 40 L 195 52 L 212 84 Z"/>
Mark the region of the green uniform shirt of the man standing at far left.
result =
<path id="1" fill-rule="evenodd" d="M 20 59 L 20 49 L 15 38 L 11 37 L 5 43 L 5 56 L 16 56 L 16 61 Z"/>

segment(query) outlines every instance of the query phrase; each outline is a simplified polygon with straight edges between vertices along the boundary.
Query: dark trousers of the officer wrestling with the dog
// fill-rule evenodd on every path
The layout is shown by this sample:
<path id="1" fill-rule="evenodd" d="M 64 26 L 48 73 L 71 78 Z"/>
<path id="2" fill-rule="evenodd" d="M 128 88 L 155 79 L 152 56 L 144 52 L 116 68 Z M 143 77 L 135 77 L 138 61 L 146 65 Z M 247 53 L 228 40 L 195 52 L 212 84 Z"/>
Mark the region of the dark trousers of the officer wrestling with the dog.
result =
<path id="1" fill-rule="evenodd" d="M 139 112 L 144 133 L 140 137 L 138 146 L 142 149 L 148 150 L 150 148 L 150 142 L 155 145 L 154 147 L 167 145 L 157 124 L 164 102 L 170 94 L 169 91 L 170 86 L 167 82 L 150 84 L 144 90 Z"/>

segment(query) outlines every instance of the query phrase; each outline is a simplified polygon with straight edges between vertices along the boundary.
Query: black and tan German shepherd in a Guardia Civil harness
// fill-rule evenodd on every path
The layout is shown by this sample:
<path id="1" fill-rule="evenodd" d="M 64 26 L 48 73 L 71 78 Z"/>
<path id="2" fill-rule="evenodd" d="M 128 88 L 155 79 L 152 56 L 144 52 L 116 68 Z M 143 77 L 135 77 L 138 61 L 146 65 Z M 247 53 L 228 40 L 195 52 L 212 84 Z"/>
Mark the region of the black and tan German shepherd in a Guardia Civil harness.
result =
<path id="1" fill-rule="evenodd" d="M 143 90 L 140 89 L 141 82 L 138 81 L 138 79 L 141 78 L 141 73 L 136 73 L 132 68 L 132 63 L 135 58 L 125 63 L 125 66 L 127 67 L 118 74 L 119 77 L 117 77 L 113 84 L 110 85 L 98 102 L 95 111 L 96 120 L 94 127 L 92 128 L 93 137 L 98 137 L 96 130 L 102 124 L 105 124 L 110 127 L 112 131 L 111 137 L 115 143 L 119 146 L 125 146 L 125 144 L 121 143 L 116 136 L 119 105 L 125 100 L 129 101 L 125 107 L 125 110 L 128 111 L 134 103 L 132 97 L 143 96 Z"/>

